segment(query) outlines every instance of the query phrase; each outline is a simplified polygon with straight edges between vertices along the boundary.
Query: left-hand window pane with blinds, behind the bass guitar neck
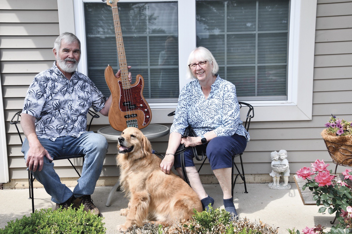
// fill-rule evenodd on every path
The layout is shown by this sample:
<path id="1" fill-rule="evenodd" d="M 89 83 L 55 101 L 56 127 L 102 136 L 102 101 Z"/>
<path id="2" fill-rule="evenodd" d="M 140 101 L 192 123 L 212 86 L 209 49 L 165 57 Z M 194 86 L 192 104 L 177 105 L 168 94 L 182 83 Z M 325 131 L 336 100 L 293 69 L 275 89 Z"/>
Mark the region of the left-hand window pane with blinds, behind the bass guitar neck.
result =
<path id="1" fill-rule="evenodd" d="M 177 102 L 178 12 L 177 2 L 118 2 L 127 65 L 144 78 L 143 96 L 148 102 Z M 101 74 L 107 64 L 114 72 L 118 56 L 111 6 L 84 2 L 88 77 L 106 96 L 110 91 Z M 115 19 L 116 20 L 116 19 Z M 89 48 L 89 49 L 88 49 Z M 122 48 L 120 48 L 122 50 Z"/>

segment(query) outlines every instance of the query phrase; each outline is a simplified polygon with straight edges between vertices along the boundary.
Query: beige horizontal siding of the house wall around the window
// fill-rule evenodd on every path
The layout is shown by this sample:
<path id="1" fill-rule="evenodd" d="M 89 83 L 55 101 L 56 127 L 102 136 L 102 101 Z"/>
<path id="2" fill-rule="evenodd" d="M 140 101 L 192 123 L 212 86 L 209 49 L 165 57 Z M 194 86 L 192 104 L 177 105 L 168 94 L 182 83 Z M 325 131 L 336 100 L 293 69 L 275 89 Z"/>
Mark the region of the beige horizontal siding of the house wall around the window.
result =
<path id="1" fill-rule="evenodd" d="M 34 75 L 51 67 L 55 59 L 52 47 L 60 33 L 57 8 L 56 0 L 21 1 L 21 4 L 0 0 L 0 77 L 12 183 L 26 181 L 27 172 L 17 131 L 9 121 L 22 108 Z M 291 173 L 309 166 L 316 159 L 332 164 L 320 132 L 331 114 L 352 120 L 352 1 L 318 0 L 316 13 L 312 120 L 256 121 L 254 117 L 250 126 L 251 141 L 243 154 L 248 182 L 270 182 L 270 152 L 275 150 L 288 151 Z M 162 116 L 171 109 L 152 111 L 152 123 L 170 127 L 172 117 Z M 108 125 L 108 119 L 101 116 L 93 124 L 92 130 L 97 131 Z M 168 136 L 164 136 L 151 140 L 151 143 L 162 153 L 167 141 Z M 116 182 L 116 152 L 116 143 L 109 142 L 101 174 L 101 179 L 105 180 L 102 185 Z M 79 165 L 80 161 L 74 163 Z M 55 165 L 62 178 L 76 176 L 66 160 L 57 161 Z M 203 167 L 204 183 L 214 182 L 212 176 L 205 176 L 211 174 L 209 165 Z M 14 183 L 11 186 L 15 186 Z"/>

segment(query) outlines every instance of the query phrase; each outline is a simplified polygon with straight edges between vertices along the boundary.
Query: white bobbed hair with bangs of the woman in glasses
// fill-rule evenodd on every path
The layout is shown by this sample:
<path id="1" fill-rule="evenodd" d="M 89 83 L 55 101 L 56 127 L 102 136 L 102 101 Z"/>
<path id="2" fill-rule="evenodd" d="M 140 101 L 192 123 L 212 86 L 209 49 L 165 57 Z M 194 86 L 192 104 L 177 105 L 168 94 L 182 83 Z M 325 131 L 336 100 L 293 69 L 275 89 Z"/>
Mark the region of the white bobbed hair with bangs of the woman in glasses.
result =
<path id="1" fill-rule="evenodd" d="M 192 73 L 192 70 L 189 68 L 188 64 L 194 63 L 195 61 L 200 62 L 200 61 L 207 61 L 210 64 L 213 65 L 212 69 L 212 74 L 215 75 L 219 71 L 219 66 L 218 63 L 216 62 L 212 52 L 209 51 L 209 49 L 199 46 L 195 48 L 188 56 L 188 61 L 187 61 L 187 74 L 186 78 L 188 79 L 196 79 Z"/>

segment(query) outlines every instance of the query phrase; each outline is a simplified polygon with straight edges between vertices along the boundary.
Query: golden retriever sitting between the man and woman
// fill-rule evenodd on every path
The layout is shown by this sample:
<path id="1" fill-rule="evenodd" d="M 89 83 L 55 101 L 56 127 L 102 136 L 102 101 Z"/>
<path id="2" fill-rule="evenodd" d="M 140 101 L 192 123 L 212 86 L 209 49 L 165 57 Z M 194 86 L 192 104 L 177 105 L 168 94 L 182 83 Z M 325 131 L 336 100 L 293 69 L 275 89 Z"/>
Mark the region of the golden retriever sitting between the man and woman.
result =
<path id="1" fill-rule="evenodd" d="M 194 209 L 203 211 L 200 199 L 186 182 L 172 172 L 161 171 L 161 159 L 152 154 L 149 140 L 138 128 L 126 128 L 118 140 L 120 185 L 130 200 L 128 208 L 121 209 L 126 222 L 117 227 L 120 232 L 147 221 L 169 226 L 188 220 Z"/>

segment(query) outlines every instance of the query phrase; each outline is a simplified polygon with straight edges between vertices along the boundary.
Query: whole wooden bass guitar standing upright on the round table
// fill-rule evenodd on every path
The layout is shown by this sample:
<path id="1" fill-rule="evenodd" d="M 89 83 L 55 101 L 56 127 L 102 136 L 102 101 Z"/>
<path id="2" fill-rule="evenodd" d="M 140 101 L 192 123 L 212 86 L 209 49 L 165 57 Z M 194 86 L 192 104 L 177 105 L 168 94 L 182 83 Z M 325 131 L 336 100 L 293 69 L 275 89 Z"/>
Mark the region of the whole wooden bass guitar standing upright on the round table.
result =
<path id="1" fill-rule="evenodd" d="M 143 97 L 144 79 L 142 75 L 137 75 L 133 85 L 128 81 L 125 47 L 117 8 L 118 0 L 103 0 L 103 2 L 112 8 L 117 54 L 121 69 L 119 79 L 115 77 L 111 66 L 108 65 L 105 69 L 105 80 L 112 94 L 109 122 L 115 130 L 120 132 L 126 127 L 142 129 L 149 125 L 152 118 L 150 107 Z"/>

